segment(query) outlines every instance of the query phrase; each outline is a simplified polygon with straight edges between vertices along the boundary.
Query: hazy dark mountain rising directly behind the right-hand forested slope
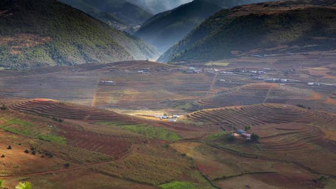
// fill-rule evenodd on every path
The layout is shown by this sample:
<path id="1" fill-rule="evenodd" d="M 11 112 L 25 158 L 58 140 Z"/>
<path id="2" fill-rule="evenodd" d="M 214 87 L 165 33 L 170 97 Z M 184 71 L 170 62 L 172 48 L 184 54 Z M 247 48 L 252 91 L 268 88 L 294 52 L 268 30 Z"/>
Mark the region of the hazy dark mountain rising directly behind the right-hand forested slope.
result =
<path id="1" fill-rule="evenodd" d="M 221 9 L 219 5 L 194 0 L 153 16 L 140 27 L 135 35 L 159 51 L 165 52 L 206 18 Z"/>

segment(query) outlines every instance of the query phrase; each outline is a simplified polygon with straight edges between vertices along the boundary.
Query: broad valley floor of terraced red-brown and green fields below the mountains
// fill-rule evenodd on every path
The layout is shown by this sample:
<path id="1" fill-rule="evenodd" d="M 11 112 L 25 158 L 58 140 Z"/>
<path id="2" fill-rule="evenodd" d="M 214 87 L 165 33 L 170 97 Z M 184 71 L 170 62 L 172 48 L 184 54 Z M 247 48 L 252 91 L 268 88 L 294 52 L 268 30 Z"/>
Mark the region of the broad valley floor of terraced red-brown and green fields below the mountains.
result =
<path id="1" fill-rule="evenodd" d="M 1 150 L 0 178 L 37 189 L 76 188 L 75 175 L 100 178 L 88 188 L 324 188 L 336 174 L 328 165 L 336 149 L 335 56 L 2 70 L 1 148 L 16 152 Z M 181 116 L 155 117 L 162 114 Z M 258 142 L 228 141 L 246 126 Z"/>

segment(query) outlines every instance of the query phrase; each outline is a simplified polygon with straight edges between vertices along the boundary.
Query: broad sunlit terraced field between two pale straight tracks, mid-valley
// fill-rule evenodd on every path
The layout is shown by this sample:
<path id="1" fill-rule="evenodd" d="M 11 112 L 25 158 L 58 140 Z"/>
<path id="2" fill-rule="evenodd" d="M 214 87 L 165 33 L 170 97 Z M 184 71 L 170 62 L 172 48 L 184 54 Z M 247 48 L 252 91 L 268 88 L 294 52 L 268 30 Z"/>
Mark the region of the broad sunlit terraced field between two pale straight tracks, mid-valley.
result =
<path id="1" fill-rule="evenodd" d="M 147 74 L 117 72 L 110 78 L 101 79 L 112 80 L 114 84 L 99 83 L 94 106 L 130 109 L 173 107 L 204 97 L 213 77 L 171 71 L 154 71 Z"/>

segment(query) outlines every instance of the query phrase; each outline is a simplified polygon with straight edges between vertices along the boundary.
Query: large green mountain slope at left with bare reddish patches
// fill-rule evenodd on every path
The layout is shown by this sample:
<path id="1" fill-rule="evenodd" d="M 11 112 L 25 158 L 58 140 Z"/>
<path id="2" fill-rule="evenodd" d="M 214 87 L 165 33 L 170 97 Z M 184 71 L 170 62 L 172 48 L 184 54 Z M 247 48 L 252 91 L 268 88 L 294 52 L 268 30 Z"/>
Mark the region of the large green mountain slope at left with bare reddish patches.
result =
<path id="1" fill-rule="evenodd" d="M 0 1 L 0 66 L 50 65 L 147 59 L 156 50 L 56 0 Z"/>

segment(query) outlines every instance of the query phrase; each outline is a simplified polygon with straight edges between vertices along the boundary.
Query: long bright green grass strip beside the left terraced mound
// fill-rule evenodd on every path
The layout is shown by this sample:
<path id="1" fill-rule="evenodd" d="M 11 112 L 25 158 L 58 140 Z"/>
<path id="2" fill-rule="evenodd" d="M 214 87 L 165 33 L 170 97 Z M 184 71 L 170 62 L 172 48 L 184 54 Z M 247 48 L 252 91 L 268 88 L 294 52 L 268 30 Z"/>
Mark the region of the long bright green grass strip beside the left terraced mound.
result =
<path id="1" fill-rule="evenodd" d="M 148 125 L 142 125 L 142 124 L 141 125 L 123 125 L 123 124 L 116 124 L 113 122 L 98 122 L 97 124 L 119 127 L 121 129 L 131 131 L 133 133 L 138 133 L 138 134 L 156 138 L 159 140 L 176 141 L 176 140 L 181 139 L 179 135 L 177 135 L 176 133 L 172 131 L 168 131 L 163 128 L 152 127 Z"/>

